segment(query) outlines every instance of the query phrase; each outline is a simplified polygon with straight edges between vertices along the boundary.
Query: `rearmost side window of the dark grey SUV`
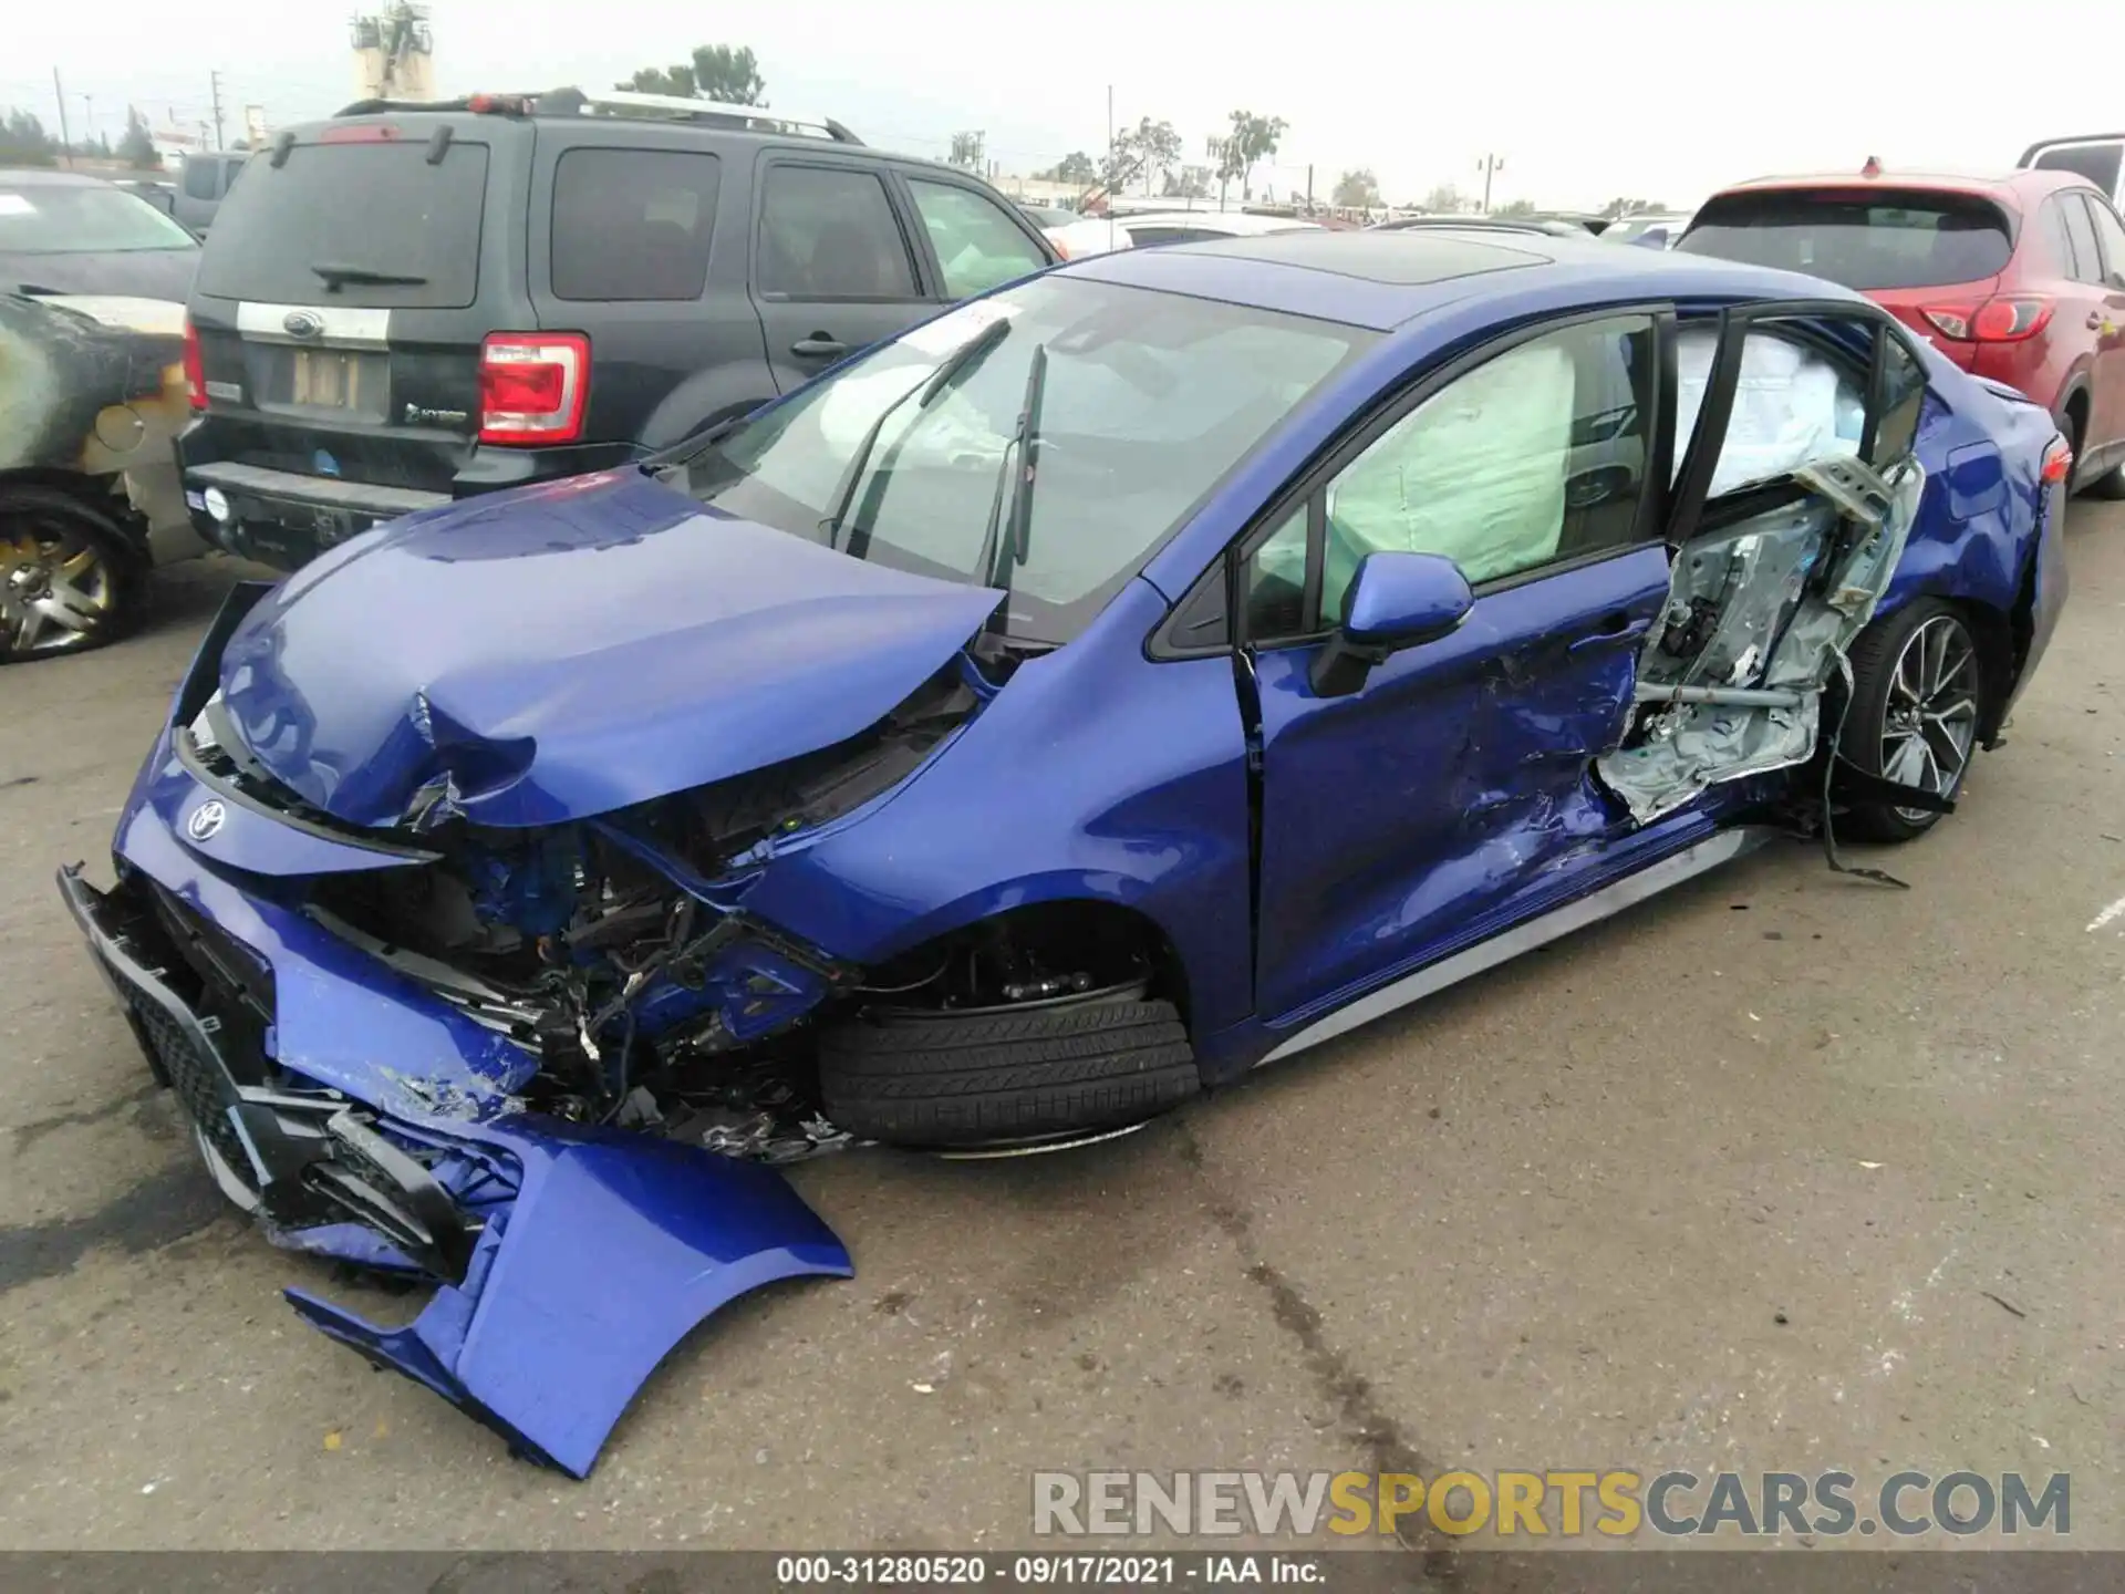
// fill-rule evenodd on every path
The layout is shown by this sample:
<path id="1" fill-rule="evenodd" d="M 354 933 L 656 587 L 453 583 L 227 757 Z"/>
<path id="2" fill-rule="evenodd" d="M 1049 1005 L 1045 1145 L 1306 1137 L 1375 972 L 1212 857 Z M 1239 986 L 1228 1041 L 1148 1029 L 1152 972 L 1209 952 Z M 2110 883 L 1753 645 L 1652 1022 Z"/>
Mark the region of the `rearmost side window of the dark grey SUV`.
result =
<path id="1" fill-rule="evenodd" d="M 722 164 L 676 149 L 572 149 L 552 172 L 561 300 L 697 300 Z"/>

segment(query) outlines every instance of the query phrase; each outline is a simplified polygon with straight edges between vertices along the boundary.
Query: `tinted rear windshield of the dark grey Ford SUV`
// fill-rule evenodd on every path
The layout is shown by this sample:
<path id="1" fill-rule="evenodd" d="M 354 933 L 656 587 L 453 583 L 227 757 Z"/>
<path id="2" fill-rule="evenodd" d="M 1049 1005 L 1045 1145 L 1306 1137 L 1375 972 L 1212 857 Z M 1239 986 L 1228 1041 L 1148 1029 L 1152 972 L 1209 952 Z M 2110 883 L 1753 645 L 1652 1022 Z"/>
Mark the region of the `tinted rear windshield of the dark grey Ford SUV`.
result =
<path id="1" fill-rule="evenodd" d="M 200 293 L 268 304 L 461 310 L 480 278 L 487 145 L 427 138 L 295 145 L 230 189 L 200 259 Z M 329 276 L 327 270 L 344 270 Z M 363 283 L 361 272 L 387 281 Z M 327 281 L 338 287 L 329 300 Z"/>

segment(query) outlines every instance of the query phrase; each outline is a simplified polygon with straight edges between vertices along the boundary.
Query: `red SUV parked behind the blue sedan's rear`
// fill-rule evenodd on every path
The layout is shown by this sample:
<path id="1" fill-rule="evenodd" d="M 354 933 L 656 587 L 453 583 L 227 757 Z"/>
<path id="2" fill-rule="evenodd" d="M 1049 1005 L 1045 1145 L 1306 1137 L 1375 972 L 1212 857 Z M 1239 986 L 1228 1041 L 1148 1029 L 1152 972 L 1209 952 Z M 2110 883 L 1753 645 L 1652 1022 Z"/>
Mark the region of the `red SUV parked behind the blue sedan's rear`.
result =
<path id="1" fill-rule="evenodd" d="M 1677 249 L 1859 289 L 1968 372 L 2051 408 L 2074 485 L 2125 497 L 2125 223 L 2074 172 L 1772 176 Z"/>

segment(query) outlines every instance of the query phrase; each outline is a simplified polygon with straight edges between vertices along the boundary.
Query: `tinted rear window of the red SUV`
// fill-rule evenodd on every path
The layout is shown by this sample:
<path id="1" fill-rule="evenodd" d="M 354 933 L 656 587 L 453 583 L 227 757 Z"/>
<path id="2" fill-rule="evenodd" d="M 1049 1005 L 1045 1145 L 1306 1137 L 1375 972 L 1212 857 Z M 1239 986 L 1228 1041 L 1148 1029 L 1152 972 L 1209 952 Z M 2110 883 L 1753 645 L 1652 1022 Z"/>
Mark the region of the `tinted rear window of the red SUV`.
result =
<path id="1" fill-rule="evenodd" d="M 2000 206 L 1974 196 L 1783 189 L 1713 200 L 1677 249 L 1870 289 L 1998 276 L 2014 242 Z"/>

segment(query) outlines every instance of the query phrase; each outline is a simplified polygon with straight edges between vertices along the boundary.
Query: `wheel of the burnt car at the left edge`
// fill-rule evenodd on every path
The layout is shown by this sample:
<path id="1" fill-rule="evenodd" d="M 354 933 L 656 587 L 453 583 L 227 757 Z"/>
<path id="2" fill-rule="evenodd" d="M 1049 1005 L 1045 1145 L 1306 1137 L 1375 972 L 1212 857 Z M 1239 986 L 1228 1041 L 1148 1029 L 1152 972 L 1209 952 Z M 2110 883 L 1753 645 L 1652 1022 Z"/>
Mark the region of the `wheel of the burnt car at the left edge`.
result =
<path id="1" fill-rule="evenodd" d="M 144 576 L 94 506 L 55 487 L 0 487 L 0 663 L 115 642 L 140 618 Z"/>

